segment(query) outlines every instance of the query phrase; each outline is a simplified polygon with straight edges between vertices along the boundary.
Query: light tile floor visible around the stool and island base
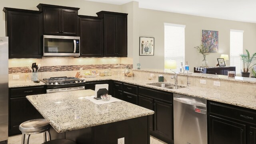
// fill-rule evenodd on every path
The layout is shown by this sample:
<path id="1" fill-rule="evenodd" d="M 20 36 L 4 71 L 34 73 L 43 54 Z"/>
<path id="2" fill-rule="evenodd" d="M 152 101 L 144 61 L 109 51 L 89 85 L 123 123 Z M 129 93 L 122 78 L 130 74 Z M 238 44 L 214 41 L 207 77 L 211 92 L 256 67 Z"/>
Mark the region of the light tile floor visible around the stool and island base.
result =
<path id="1" fill-rule="evenodd" d="M 30 144 L 42 144 L 43 141 L 43 134 L 33 134 L 30 136 L 29 143 Z M 21 143 L 21 135 L 17 136 L 10 136 L 8 138 L 8 144 L 20 144 Z M 157 138 L 150 136 L 150 144 L 167 144 Z"/>

